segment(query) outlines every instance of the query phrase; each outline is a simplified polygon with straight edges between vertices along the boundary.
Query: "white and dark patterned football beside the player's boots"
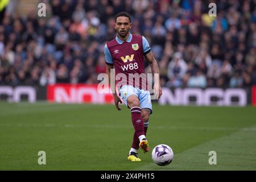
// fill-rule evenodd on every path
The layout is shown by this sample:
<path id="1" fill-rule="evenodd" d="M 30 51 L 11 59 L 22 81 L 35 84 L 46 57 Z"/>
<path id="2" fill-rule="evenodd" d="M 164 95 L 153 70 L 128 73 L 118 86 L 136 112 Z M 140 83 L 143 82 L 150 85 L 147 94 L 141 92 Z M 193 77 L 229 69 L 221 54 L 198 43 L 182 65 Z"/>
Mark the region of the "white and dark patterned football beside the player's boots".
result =
<path id="1" fill-rule="evenodd" d="M 166 166 L 172 162 L 174 152 L 166 144 L 159 144 L 152 150 L 152 160 L 159 166 Z"/>

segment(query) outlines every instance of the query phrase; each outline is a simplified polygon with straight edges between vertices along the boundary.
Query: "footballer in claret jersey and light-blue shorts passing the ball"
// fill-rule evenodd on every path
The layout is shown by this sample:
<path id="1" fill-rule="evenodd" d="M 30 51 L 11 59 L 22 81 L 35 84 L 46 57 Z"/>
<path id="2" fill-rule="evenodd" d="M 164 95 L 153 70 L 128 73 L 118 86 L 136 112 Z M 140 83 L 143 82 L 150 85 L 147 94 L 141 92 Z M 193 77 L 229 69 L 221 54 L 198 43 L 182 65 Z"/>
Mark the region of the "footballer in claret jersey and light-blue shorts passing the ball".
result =
<path id="1" fill-rule="evenodd" d="M 121 12 L 115 16 L 114 28 L 117 36 L 106 43 L 104 48 L 107 73 L 110 81 L 110 71 L 114 69 L 115 76 L 124 74 L 129 78 L 130 74 L 146 75 L 144 71 L 144 57 L 150 64 L 154 74 L 154 96 L 159 99 L 162 89 L 159 81 L 158 64 L 151 52 L 150 45 L 144 36 L 134 35 L 131 30 L 131 16 L 126 12 Z M 118 110 L 119 102 L 131 111 L 131 121 L 134 126 L 133 144 L 131 145 L 127 159 L 133 162 L 140 162 L 137 150 L 142 148 L 143 152 L 148 152 L 148 140 L 146 139 L 148 119 L 152 114 L 152 104 L 148 89 L 142 89 L 143 83 L 139 80 L 139 85 L 126 81 L 121 86 L 117 86 L 118 79 L 115 78 L 115 89 L 112 90 L 115 107 Z M 145 88 L 145 87 L 144 87 Z M 147 87 L 146 87 L 147 88 Z M 117 92 L 115 92 L 117 90 Z M 121 100 L 122 98 L 122 100 Z"/>

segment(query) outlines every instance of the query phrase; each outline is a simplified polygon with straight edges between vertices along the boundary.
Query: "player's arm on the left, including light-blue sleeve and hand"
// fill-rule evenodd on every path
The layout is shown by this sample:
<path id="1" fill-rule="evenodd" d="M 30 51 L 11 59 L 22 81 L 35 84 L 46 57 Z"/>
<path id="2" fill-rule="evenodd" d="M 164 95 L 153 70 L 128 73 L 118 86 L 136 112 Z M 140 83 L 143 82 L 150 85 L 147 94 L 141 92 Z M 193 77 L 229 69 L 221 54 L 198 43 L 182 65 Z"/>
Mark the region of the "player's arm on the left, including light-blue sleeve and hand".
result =
<path id="1" fill-rule="evenodd" d="M 109 49 L 106 45 L 104 48 L 104 55 L 105 55 L 105 62 L 107 65 L 106 73 L 108 74 L 110 89 L 111 89 L 113 97 L 114 97 L 115 107 L 117 107 L 118 110 L 122 110 L 122 108 L 119 107 L 119 105 L 118 105 L 119 102 L 122 104 L 121 98 L 118 97 L 117 93 L 115 92 L 115 76 L 113 77 L 113 80 L 111 80 L 111 70 L 114 71 L 113 58 L 112 58 L 112 56 L 109 52 Z"/>

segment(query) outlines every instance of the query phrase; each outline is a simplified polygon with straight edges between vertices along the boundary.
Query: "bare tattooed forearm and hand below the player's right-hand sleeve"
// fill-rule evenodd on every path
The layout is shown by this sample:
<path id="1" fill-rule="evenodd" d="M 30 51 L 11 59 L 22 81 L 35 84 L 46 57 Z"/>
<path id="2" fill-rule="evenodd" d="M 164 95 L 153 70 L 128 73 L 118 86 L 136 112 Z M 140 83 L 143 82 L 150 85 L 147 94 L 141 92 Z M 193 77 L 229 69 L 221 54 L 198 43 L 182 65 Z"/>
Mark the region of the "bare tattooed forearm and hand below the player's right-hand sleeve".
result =
<path id="1" fill-rule="evenodd" d="M 154 94 L 155 94 L 155 98 L 159 99 L 162 96 L 162 88 L 161 88 L 161 85 L 160 85 L 158 63 L 156 62 L 152 51 L 148 52 L 145 55 L 145 57 L 146 57 L 148 63 L 150 64 L 152 73 L 154 74 Z"/>

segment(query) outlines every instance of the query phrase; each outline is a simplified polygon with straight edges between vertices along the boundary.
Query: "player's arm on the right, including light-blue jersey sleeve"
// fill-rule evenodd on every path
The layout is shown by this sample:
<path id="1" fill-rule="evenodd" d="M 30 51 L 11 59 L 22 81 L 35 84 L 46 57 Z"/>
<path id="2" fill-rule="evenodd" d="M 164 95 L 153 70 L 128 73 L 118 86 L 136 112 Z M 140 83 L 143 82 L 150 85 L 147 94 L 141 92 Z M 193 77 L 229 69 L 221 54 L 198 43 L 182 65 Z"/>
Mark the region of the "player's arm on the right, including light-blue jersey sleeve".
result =
<path id="1" fill-rule="evenodd" d="M 159 99 L 162 96 L 162 88 L 160 85 L 160 77 L 159 77 L 159 68 L 158 63 L 155 60 L 155 57 L 150 49 L 150 45 L 148 44 L 146 38 L 142 36 L 142 46 L 143 46 L 143 54 L 146 57 L 148 63 L 151 67 L 151 72 L 154 74 L 154 94 L 155 98 Z"/>

